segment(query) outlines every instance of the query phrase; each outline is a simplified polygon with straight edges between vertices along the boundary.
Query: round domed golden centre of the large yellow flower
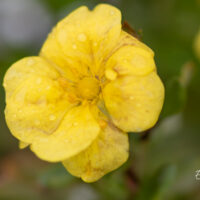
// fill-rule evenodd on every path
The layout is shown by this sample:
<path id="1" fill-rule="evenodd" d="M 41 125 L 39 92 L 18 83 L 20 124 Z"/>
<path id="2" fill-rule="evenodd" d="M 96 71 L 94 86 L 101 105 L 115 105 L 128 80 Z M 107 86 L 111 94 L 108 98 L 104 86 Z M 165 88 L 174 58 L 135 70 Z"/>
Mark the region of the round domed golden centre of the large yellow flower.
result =
<path id="1" fill-rule="evenodd" d="M 93 77 L 85 77 L 79 81 L 77 92 L 81 98 L 92 100 L 96 98 L 100 92 L 99 81 Z"/>

